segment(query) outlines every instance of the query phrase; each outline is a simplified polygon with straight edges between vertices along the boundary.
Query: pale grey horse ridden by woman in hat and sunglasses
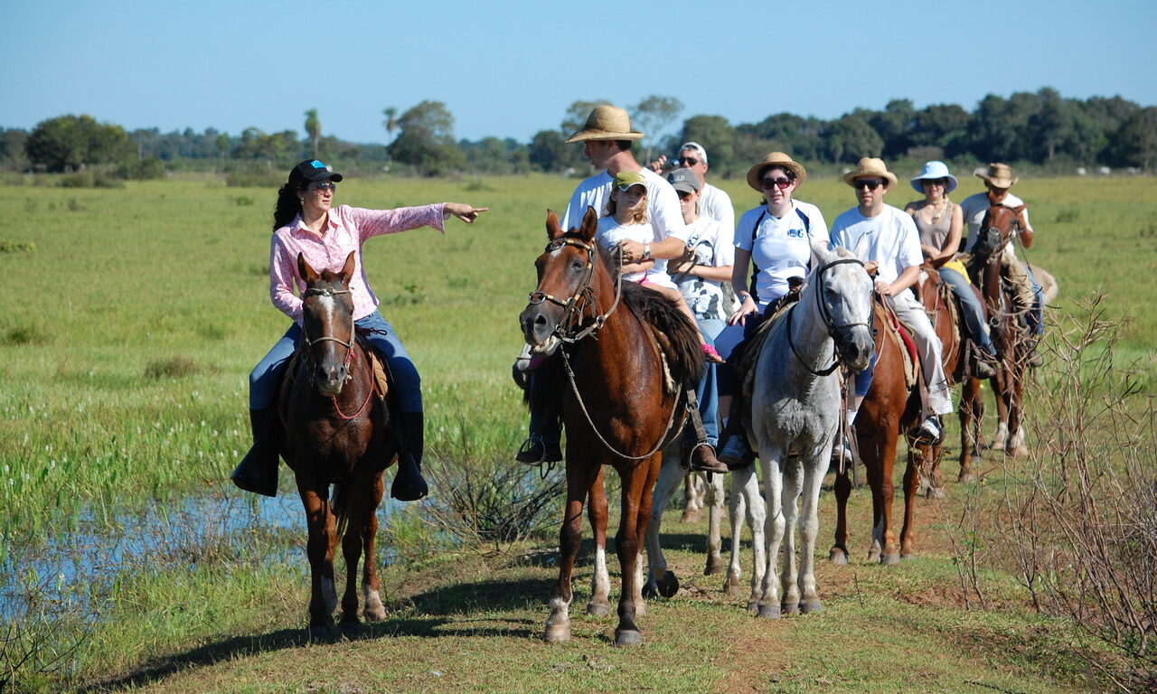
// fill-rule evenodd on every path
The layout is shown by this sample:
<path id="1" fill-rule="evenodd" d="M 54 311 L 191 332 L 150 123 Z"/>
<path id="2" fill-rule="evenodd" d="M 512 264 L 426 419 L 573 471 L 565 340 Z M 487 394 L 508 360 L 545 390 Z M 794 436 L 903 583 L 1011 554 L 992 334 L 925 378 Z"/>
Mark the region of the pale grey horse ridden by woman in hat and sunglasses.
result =
<path id="1" fill-rule="evenodd" d="M 853 371 L 868 367 L 875 353 L 871 335 L 872 281 L 857 253 L 828 251 L 812 244 L 818 261 L 798 303 L 769 328 L 756 363 L 751 420 L 746 427 L 762 465 L 767 515 L 767 563 L 756 564 L 747 608 L 776 619 L 780 613 L 819 612 L 813 571 L 817 503 L 827 472 L 832 440 L 843 416 L 839 364 Z M 863 249 L 857 249 L 862 253 Z M 747 414 L 747 413 L 734 413 Z M 743 487 L 753 466 L 731 473 Z M 796 500 L 803 495 L 798 570 L 795 556 Z M 775 571 L 783 544 L 782 573 Z M 760 585 L 761 583 L 761 585 Z M 781 601 L 781 591 L 783 592 Z"/>

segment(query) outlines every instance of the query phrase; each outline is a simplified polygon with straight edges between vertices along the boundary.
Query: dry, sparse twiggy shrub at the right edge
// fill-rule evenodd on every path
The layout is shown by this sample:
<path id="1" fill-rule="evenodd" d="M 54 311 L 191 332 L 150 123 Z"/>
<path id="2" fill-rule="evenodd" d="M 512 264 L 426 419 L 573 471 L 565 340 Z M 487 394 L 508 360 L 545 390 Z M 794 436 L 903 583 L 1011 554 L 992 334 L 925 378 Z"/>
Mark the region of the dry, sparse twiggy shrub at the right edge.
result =
<path id="1" fill-rule="evenodd" d="M 1101 297 L 1053 331 L 1031 385 L 1027 463 L 1009 462 L 992 542 L 1037 610 L 1071 618 L 1119 657 L 1082 652 L 1121 691 L 1157 688 L 1157 446 L 1141 369 L 1113 361 Z"/>

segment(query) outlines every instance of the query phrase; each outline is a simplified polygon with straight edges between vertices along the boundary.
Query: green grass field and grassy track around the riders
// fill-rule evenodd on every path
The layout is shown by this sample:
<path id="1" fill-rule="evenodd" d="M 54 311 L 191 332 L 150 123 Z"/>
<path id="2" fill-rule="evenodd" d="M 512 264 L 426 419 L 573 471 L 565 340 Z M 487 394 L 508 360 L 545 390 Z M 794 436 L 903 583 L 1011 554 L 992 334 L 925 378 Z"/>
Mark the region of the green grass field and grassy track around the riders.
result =
<path id="1" fill-rule="evenodd" d="M 448 222 L 445 237 L 422 229 L 366 246 L 382 312 L 422 374 L 435 451 L 504 460 L 522 440 L 525 414 L 509 378 L 521 346 L 517 315 L 535 285 L 545 211 L 561 209 L 575 183 L 533 176 L 341 184 L 338 202 L 362 207 L 448 199 L 491 207 L 473 227 Z M 742 180 L 713 183 L 732 194 L 738 212 L 758 202 Z M 980 189 L 980 180 L 961 177 L 952 197 Z M 1029 179 L 1016 192 L 1037 229 L 1029 258 L 1061 286 L 1055 315 L 1069 312 L 1074 298 L 1104 294 L 1108 317 L 1127 319 L 1117 363 L 1136 362 L 1151 398 L 1157 182 Z M 901 187 L 887 201 L 902 206 L 915 197 Z M 0 560 L 12 551 L 36 552 L 38 538 L 67 534 L 79 519 L 106 518 L 116 526 L 125 509 L 187 494 L 234 494 L 227 475 L 249 441 L 246 376 L 287 327 L 268 301 L 273 198 L 272 190 L 230 189 L 215 179 L 116 190 L 0 187 L 7 289 L 0 311 Z M 837 179 L 809 179 L 798 198 L 819 205 L 828 222 L 854 202 Z M 433 488 L 436 494 L 436 480 Z M 289 493 L 286 480 L 282 489 Z M 857 496 L 863 518 L 867 502 Z M 958 503 L 961 495 L 955 496 Z M 45 622 L 61 634 L 91 629 L 90 637 L 60 673 L 24 686 L 72 688 L 130 677 L 113 688 L 1084 688 L 1071 656 L 1077 637 L 1029 614 L 1008 576 L 989 577 L 1002 608 L 977 612 L 961 604 L 944 539 L 952 532 L 952 503 L 927 504 L 929 532 L 939 539 L 924 544 L 926 559 L 891 571 L 862 562 L 842 574 L 825 567 L 820 592 L 833 588 L 820 618 L 765 628 L 714 579 L 699 577 L 702 591 L 654 607 L 642 627 L 648 643 L 638 652 L 611 649 L 605 635 L 612 626 L 582 619 L 574 643 L 538 643 L 553 571 L 509 556 L 396 564 L 385 579 L 391 617 L 373 630 L 375 638 L 304 644 L 300 538 L 199 546 L 194 560 L 105 571 L 98 589 L 78 597 L 87 600 L 78 612 L 101 618 L 96 626 Z M 830 496 L 821 505 L 831 510 Z M 407 509 L 390 523 L 417 525 L 411 515 Z M 821 524 L 830 538 L 830 516 Z M 679 538 L 702 532 L 664 531 Z M 855 532 L 862 539 L 865 525 Z M 270 545 L 288 546 L 292 559 L 261 561 Z M 699 567 L 701 548 L 701 538 L 676 548 L 683 575 Z M 737 679 L 737 671 L 756 679 Z"/>

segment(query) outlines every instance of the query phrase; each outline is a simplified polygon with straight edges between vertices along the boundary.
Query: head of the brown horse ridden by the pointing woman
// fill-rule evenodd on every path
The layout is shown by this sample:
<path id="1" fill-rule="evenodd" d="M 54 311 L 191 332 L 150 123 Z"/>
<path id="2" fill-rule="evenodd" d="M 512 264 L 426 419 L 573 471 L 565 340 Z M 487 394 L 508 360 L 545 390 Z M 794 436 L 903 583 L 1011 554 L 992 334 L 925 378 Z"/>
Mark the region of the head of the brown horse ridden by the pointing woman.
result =
<path id="1" fill-rule="evenodd" d="M 305 281 L 302 294 L 302 346 L 312 367 L 312 379 L 323 396 L 337 396 L 349 381 L 354 347 L 354 276 L 356 251 L 351 251 L 339 272 L 315 271 L 297 253 L 297 272 Z"/>

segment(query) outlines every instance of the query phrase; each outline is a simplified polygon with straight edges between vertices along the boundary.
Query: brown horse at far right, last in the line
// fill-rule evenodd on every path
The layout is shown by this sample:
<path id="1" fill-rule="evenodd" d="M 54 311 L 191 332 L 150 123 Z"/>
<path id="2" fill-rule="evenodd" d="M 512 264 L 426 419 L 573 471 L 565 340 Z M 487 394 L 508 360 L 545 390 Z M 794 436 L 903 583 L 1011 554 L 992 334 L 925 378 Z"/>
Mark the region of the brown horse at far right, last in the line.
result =
<path id="1" fill-rule="evenodd" d="M 993 344 L 1000 354 L 1000 368 L 993 378 L 996 393 L 996 413 L 1000 419 L 997 442 L 994 448 L 1003 448 L 1010 456 L 1027 455 L 1022 429 L 1022 394 L 1024 370 L 1030 359 L 1029 327 L 1023 310 L 1016 303 L 1009 288 L 1003 288 L 1001 266 L 1005 249 L 1011 239 L 1025 228 L 1025 206 L 1007 207 L 994 205 L 985 213 L 979 236 L 972 246 L 968 274 L 985 297 L 990 316 Z"/>

